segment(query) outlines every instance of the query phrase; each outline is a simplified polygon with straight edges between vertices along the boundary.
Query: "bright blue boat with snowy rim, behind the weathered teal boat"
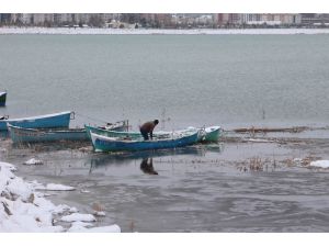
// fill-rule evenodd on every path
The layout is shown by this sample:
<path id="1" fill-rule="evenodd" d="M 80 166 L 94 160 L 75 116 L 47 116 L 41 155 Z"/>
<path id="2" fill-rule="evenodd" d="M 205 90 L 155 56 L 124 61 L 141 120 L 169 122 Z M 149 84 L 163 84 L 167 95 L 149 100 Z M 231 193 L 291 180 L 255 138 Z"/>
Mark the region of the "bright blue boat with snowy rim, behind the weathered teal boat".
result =
<path id="1" fill-rule="evenodd" d="M 67 111 L 39 116 L 0 120 L 0 131 L 8 131 L 8 123 L 14 126 L 25 128 L 68 127 L 72 114 L 73 112 Z"/>

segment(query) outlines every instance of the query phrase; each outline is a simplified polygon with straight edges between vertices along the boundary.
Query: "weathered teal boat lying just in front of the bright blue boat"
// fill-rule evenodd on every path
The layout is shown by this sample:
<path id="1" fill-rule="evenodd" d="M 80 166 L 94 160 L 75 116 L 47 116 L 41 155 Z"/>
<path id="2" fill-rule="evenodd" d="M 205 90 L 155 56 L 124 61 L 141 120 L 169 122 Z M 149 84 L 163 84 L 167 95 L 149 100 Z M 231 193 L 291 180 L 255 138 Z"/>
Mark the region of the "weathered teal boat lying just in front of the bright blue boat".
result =
<path id="1" fill-rule="evenodd" d="M 89 139 L 86 128 L 25 128 L 8 124 L 8 130 L 14 144 Z"/>

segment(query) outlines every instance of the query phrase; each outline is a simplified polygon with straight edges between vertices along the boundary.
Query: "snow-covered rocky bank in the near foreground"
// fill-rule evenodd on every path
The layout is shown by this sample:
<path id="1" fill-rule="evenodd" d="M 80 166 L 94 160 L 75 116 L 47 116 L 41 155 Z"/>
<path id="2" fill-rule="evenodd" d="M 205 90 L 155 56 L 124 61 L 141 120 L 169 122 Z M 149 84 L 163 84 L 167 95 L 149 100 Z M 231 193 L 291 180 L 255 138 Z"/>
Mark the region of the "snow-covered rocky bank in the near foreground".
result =
<path id="1" fill-rule="evenodd" d="M 76 207 L 54 205 L 38 190 L 73 190 L 72 187 L 49 183 L 42 186 L 16 177 L 16 168 L 0 162 L 0 233 L 120 233 L 117 225 L 92 227 L 98 218 L 78 213 Z M 68 226 L 69 225 L 69 226 Z"/>

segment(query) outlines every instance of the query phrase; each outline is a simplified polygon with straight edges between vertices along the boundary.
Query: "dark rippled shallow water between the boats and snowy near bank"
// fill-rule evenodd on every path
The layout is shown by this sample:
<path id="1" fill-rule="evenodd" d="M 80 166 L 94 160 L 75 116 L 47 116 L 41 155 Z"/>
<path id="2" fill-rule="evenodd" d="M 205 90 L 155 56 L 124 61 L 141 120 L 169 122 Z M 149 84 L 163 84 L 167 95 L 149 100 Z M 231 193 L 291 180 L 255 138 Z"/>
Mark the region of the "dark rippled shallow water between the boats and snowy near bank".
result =
<path id="1" fill-rule="evenodd" d="M 124 155 L 48 148 L 10 146 L 2 160 L 16 164 L 25 179 L 76 187 L 73 192 L 50 192 L 50 200 L 84 213 L 98 203 L 106 213 L 99 225 L 115 223 L 123 232 L 329 231 L 328 170 L 284 161 L 328 159 L 321 139 L 313 145 L 220 143 Z M 45 164 L 22 165 L 31 157 Z M 141 166 L 144 158 L 152 160 L 152 169 Z M 252 169 L 256 159 L 261 165 Z"/>

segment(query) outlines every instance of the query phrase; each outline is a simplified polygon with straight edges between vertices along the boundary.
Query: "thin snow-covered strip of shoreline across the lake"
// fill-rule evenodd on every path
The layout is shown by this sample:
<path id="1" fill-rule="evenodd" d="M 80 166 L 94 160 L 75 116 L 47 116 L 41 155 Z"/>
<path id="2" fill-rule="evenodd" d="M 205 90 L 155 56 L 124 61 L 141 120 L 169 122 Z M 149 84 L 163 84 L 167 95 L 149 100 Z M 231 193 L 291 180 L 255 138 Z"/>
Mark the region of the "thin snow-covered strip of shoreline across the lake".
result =
<path id="1" fill-rule="evenodd" d="M 83 35 L 114 35 L 114 34 L 189 34 L 189 35 L 223 35 L 223 34 L 329 34 L 329 29 L 227 29 L 227 30 L 152 30 L 152 29 L 91 29 L 91 27 L 0 27 L 3 34 L 83 34 Z"/>

